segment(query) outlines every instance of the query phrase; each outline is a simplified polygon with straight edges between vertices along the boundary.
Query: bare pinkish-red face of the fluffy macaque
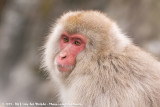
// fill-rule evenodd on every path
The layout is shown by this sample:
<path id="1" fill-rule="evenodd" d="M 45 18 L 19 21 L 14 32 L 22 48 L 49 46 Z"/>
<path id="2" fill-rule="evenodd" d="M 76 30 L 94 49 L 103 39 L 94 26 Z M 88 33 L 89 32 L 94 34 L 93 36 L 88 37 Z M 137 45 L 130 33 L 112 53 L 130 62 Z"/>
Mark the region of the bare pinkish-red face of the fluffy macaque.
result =
<path id="1" fill-rule="evenodd" d="M 80 34 L 62 33 L 60 38 L 60 52 L 56 58 L 59 71 L 71 71 L 76 63 L 77 55 L 84 49 L 86 38 Z"/>

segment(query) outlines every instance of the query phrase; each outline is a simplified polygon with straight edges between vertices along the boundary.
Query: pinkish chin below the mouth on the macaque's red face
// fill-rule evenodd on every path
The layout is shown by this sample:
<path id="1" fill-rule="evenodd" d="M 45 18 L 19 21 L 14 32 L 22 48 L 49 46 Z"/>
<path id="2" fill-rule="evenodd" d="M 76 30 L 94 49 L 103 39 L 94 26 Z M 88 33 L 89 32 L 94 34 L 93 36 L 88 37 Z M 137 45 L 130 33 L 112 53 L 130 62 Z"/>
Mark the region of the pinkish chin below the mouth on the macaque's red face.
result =
<path id="1" fill-rule="evenodd" d="M 57 65 L 57 69 L 60 72 L 71 72 L 73 69 L 73 66 L 71 66 L 71 65 Z"/>

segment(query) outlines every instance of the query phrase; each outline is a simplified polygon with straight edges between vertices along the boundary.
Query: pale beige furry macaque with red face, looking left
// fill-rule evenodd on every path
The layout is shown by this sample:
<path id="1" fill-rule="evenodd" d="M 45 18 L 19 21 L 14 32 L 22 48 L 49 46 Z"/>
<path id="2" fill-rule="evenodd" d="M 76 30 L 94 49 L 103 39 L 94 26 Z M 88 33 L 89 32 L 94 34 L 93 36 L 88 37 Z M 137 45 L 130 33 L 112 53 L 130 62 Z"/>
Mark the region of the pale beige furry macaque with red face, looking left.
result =
<path id="1" fill-rule="evenodd" d="M 160 107 L 160 63 L 103 13 L 64 14 L 44 48 L 64 106 Z"/>

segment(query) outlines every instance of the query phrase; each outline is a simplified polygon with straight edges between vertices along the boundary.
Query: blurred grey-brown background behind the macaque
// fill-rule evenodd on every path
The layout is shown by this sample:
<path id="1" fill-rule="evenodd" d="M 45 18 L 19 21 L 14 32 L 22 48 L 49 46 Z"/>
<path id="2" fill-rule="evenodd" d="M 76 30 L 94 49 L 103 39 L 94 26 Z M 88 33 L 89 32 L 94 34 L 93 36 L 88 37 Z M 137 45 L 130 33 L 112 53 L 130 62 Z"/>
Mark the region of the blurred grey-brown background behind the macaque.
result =
<path id="1" fill-rule="evenodd" d="M 57 103 L 56 86 L 40 69 L 40 47 L 61 14 L 88 9 L 108 14 L 136 45 L 160 59 L 159 0 L 0 0 L 0 106 Z"/>

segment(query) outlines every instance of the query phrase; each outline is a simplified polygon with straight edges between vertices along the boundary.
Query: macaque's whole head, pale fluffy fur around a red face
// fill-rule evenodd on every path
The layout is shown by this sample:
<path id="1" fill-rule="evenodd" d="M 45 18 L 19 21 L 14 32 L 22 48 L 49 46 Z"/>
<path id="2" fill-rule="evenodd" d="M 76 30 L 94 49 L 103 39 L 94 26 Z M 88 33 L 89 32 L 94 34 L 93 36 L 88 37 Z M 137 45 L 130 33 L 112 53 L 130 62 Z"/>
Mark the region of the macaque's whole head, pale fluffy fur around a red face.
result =
<path id="1" fill-rule="evenodd" d="M 119 51 L 128 43 L 128 38 L 121 36 L 117 25 L 104 14 L 68 12 L 51 28 L 45 44 L 44 66 L 65 77 L 73 71 L 82 73 L 90 62 Z"/>

